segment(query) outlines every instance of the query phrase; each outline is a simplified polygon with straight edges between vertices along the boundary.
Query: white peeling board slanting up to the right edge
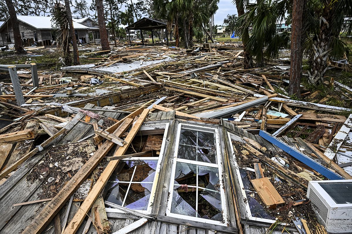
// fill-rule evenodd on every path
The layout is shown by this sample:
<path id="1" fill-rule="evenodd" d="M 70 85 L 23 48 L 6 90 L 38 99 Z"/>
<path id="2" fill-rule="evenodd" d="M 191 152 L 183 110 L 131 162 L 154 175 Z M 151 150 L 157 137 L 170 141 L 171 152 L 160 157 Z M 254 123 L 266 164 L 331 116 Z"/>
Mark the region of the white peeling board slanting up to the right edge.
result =
<path id="1" fill-rule="evenodd" d="M 340 131 L 335 135 L 334 139 L 330 142 L 329 146 L 326 148 L 324 152 L 325 156 L 329 159 L 333 159 L 336 156 L 337 151 L 339 150 L 340 146 L 344 142 L 346 136 L 351 131 L 352 128 L 352 114 L 348 116 L 346 122 L 340 128 Z"/>

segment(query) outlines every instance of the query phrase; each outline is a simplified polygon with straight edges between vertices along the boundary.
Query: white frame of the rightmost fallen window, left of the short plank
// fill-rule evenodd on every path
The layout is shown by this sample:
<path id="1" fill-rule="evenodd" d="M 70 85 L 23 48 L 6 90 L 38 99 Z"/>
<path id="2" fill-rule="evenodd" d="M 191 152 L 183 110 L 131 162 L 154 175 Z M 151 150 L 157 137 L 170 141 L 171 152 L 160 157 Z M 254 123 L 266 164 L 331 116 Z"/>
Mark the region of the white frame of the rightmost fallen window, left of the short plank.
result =
<path id="1" fill-rule="evenodd" d="M 230 140 L 230 144 L 229 145 L 230 145 L 231 153 L 232 153 L 232 156 L 233 156 L 234 167 L 236 168 L 236 175 L 237 175 L 237 179 L 238 179 L 239 186 L 240 186 L 239 190 L 241 191 L 241 194 L 242 194 L 242 197 L 238 198 L 238 199 L 242 199 L 242 201 L 243 201 L 243 204 L 245 206 L 245 211 L 246 211 L 245 215 L 247 216 L 247 219 L 252 220 L 252 221 L 270 223 L 270 224 L 275 223 L 276 220 L 257 218 L 257 217 L 254 217 L 252 215 L 251 209 L 249 207 L 249 202 L 247 202 L 248 198 L 247 198 L 247 194 L 246 194 L 246 191 L 245 191 L 245 188 L 244 188 L 244 185 L 243 185 L 243 181 L 242 181 L 242 178 L 241 178 L 241 173 L 240 173 L 240 170 L 239 170 L 240 167 L 237 164 L 236 156 L 235 156 L 233 145 L 232 145 L 232 142 L 231 142 L 231 139 L 233 139 L 233 138 L 236 139 L 236 138 L 238 138 L 238 136 L 235 135 L 235 134 L 232 134 L 230 132 L 227 132 L 227 135 L 228 135 L 228 139 Z M 231 136 L 234 136 L 234 137 L 231 138 Z M 254 169 L 252 169 L 252 168 L 245 167 L 245 168 L 242 168 L 242 169 L 254 172 Z M 286 225 L 286 223 L 282 223 L 282 225 Z"/>

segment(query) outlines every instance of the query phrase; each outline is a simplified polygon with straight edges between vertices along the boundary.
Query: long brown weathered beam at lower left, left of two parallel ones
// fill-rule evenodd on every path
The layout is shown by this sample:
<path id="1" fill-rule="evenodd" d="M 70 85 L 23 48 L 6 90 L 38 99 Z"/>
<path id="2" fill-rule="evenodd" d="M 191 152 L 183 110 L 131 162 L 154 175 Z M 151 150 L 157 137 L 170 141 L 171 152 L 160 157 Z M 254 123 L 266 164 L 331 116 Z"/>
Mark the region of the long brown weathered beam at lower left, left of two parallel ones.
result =
<path id="1" fill-rule="evenodd" d="M 125 121 L 114 131 L 114 134 L 122 136 L 132 124 L 132 119 L 125 119 Z M 54 218 L 59 210 L 65 205 L 65 202 L 76 192 L 77 188 L 84 182 L 87 176 L 92 173 L 93 169 L 98 165 L 100 160 L 111 150 L 114 143 L 106 141 L 103 145 L 88 159 L 86 163 L 72 176 L 72 178 L 65 184 L 59 193 L 46 204 L 46 206 L 38 213 L 38 215 L 28 225 L 23 234 L 41 233 L 46 225 Z M 98 196 L 96 196 L 98 197 Z M 93 202 L 95 201 L 94 198 Z M 91 204 L 92 205 L 92 204 Z M 88 210 L 86 210 L 88 212 Z M 85 213 L 84 213 L 85 214 Z M 71 224 L 70 224 L 71 225 Z"/>

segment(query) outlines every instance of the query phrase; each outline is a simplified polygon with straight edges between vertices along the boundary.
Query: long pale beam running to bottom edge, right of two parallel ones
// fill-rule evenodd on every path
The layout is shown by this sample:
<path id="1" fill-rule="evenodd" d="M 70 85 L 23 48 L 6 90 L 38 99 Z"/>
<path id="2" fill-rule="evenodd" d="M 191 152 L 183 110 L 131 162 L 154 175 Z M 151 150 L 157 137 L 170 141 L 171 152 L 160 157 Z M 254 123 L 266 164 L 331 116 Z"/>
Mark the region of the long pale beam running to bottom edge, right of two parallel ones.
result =
<path id="1" fill-rule="evenodd" d="M 126 153 L 134 136 L 136 136 L 137 132 L 139 131 L 140 126 L 142 126 L 144 120 L 146 119 L 149 111 L 150 111 L 149 109 L 145 109 L 142 112 L 142 114 L 140 114 L 136 123 L 134 123 L 131 131 L 127 134 L 127 136 L 125 138 L 126 145 L 118 147 L 115 150 L 115 153 L 113 156 L 122 156 Z M 80 225 L 82 224 L 82 222 L 84 220 L 84 217 L 86 216 L 86 213 L 88 213 L 88 210 L 90 209 L 90 207 L 92 207 L 96 198 L 98 198 L 101 190 L 105 187 L 108 179 L 110 178 L 111 174 L 113 173 L 113 171 L 115 170 L 115 168 L 117 167 L 119 162 L 120 162 L 120 160 L 109 161 L 108 165 L 106 166 L 106 168 L 104 169 L 104 171 L 100 175 L 99 179 L 94 184 L 92 190 L 90 190 L 90 192 L 88 193 L 87 198 L 84 199 L 82 205 L 80 206 L 80 209 L 78 209 L 75 216 L 71 219 L 71 222 L 67 225 L 63 234 L 74 234 L 77 232 L 78 228 L 80 227 Z"/>

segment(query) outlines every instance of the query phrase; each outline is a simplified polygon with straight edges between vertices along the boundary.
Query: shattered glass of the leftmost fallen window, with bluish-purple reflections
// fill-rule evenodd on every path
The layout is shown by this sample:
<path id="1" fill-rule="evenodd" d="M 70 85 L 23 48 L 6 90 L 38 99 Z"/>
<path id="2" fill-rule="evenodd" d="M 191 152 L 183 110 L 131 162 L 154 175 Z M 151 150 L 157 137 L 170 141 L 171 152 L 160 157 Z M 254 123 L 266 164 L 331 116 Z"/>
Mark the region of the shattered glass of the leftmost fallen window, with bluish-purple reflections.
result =
<path id="1" fill-rule="evenodd" d="M 157 162 L 121 161 L 105 187 L 105 200 L 129 209 L 147 210 Z"/>

